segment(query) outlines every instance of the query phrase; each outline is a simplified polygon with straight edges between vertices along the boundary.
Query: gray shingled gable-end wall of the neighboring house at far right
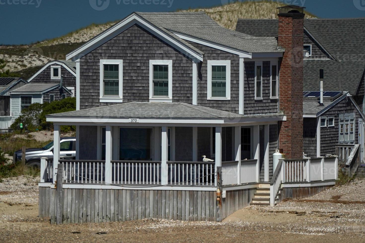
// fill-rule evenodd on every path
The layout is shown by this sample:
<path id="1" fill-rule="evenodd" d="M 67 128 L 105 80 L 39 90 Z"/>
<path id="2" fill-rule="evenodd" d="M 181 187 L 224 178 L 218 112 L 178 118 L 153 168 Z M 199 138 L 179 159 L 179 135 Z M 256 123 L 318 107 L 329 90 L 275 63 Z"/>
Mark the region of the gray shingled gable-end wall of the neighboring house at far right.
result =
<path id="1" fill-rule="evenodd" d="M 339 114 L 345 113 L 354 113 L 355 114 L 355 132 L 354 138 L 355 143 L 358 143 L 358 125 L 360 114 L 357 112 L 353 103 L 348 99 L 339 102 L 336 106 L 332 107 L 330 110 L 326 111 L 322 116 L 326 117 L 334 117 L 335 118 L 335 126 L 321 128 L 321 136 L 320 136 L 320 153 L 321 156 L 326 154 L 335 154 L 336 148 L 335 145 L 338 143 L 338 122 L 339 122 Z"/>

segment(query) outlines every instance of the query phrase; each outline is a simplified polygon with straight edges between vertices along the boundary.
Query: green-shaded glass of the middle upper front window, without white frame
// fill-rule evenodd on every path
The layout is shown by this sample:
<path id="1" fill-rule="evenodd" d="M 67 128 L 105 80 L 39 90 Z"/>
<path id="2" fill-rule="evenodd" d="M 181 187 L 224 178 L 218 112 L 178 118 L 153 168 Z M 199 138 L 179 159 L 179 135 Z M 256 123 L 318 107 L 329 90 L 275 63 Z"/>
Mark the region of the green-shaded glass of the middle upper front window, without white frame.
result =
<path id="1" fill-rule="evenodd" d="M 169 65 L 153 65 L 153 96 L 169 96 Z"/>

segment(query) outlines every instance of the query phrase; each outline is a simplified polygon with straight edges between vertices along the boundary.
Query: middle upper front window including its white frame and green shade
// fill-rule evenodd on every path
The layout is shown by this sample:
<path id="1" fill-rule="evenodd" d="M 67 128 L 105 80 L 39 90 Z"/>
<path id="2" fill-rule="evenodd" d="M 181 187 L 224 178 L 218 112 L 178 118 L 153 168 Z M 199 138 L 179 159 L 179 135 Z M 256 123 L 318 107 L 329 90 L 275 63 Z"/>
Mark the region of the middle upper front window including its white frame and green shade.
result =
<path id="1" fill-rule="evenodd" d="M 150 101 L 172 102 L 172 60 L 150 60 Z"/>

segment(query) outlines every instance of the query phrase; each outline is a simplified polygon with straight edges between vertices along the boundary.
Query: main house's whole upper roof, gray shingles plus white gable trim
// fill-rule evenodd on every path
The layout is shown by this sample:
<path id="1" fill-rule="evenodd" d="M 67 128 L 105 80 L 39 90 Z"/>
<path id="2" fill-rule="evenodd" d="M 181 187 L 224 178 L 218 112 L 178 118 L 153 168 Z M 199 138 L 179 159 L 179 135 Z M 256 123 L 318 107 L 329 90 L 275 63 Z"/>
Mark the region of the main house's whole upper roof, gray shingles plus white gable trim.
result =
<path id="1" fill-rule="evenodd" d="M 66 58 L 73 60 L 80 58 L 133 24 L 140 25 L 185 55 L 190 55 L 189 57 L 200 61 L 203 60 L 204 52 L 189 44 L 187 40 L 191 40 L 190 38 L 202 39 L 219 46 L 240 50 L 249 56 L 251 52 L 275 52 L 278 55 L 283 53 L 282 50 L 278 50 L 275 38 L 257 38 L 227 30 L 204 12 L 135 12 L 76 48 L 67 54 Z"/>

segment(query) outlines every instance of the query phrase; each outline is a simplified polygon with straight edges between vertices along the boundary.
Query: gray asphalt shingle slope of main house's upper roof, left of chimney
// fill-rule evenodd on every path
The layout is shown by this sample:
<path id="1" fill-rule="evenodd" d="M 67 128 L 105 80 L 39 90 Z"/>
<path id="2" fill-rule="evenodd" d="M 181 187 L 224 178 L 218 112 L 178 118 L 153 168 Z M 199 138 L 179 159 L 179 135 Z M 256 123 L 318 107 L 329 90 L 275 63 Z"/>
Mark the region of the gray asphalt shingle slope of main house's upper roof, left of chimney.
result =
<path id="1" fill-rule="evenodd" d="M 219 26 L 204 12 L 137 12 L 137 14 L 164 31 L 181 32 L 241 51 L 282 52 L 277 48 L 276 38 L 255 37 L 228 30 Z"/>

